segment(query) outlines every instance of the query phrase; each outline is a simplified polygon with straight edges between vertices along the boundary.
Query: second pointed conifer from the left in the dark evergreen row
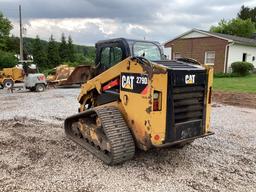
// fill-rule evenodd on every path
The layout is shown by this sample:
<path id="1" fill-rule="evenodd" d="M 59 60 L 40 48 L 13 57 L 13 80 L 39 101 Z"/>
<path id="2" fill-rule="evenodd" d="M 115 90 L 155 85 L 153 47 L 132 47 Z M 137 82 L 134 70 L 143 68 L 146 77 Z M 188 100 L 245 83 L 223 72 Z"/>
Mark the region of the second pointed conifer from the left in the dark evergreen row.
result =
<path id="1" fill-rule="evenodd" d="M 59 49 L 53 35 L 51 35 L 48 43 L 47 60 L 49 67 L 56 67 L 60 64 Z"/>

